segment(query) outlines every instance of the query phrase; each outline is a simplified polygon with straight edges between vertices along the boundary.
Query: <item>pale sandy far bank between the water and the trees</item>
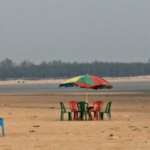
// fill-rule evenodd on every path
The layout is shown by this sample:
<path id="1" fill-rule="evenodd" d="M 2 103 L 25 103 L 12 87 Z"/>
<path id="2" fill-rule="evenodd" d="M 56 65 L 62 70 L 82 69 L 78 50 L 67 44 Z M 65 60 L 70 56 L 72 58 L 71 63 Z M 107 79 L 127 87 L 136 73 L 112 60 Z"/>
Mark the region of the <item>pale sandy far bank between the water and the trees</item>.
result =
<path id="1" fill-rule="evenodd" d="M 116 82 L 149 82 L 150 75 L 145 76 L 128 76 L 128 77 L 104 77 L 110 83 Z M 9 85 L 38 85 L 38 84 L 60 84 L 66 79 L 39 79 L 39 80 L 26 80 L 26 79 L 16 79 L 16 80 L 0 80 L 0 86 Z"/>

